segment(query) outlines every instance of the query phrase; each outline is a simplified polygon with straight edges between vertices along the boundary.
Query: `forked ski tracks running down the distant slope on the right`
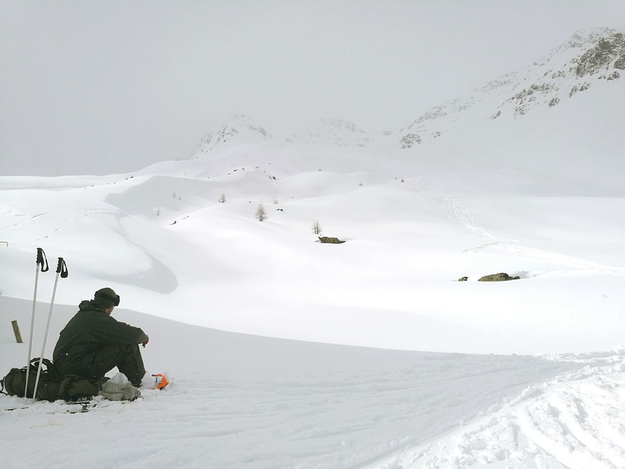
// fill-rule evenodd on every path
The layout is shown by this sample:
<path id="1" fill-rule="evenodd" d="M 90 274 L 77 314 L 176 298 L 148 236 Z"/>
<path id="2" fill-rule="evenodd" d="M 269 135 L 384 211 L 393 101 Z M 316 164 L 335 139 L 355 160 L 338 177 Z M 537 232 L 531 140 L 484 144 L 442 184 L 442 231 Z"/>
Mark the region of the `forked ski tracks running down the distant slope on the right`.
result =
<path id="1" fill-rule="evenodd" d="M 441 199 L 439 205 L 449 211 L 447 217 L 457 221 L 458 223 L 463 224 L 464 226 L 466 226 L 467 229 L 469 229 L 469 231 L 471 231 L 471 233 L 475 233 L 482 238 L 491 238 L 492 240 L 498 239 L 496 236 L 488 233 L 486 228 L 479 224 L 475 211 L 470 209 L 469 206 L 463 203 L 458 197 L 446 194 L 444 192 L 444 189 L 442 189 L 441 184 L 436 183 L 431 178 L 424 176 L 421 178 L 417 178 L 413 185 L 417 188 L 417 190 L 421 192 L 439 197 Z M 502 251 L 507 255 L 519 256 L 521 258 L 531 260 L 546 261 L 553 264 L 566 265 L 579 270 L 593 270 L 598 271 L 599 273 L 602 273 L 604 275 L 625 276 L 625 268 L 607 266 L 591 261 L 574 258 L 571 256 L 554 253 L 552 251 L 519 246 L 517 244 L 521 243 L 521 241 L 519 240 L 501 240 L 501 238 L 499 239 L 500 241 L 493 241 L 492 243 L 479 245 L 476 248 L 464 250 L 462 251 L 462 253 L 488 255 L 484 253 L 484 251 L 495 250 Z"/>

